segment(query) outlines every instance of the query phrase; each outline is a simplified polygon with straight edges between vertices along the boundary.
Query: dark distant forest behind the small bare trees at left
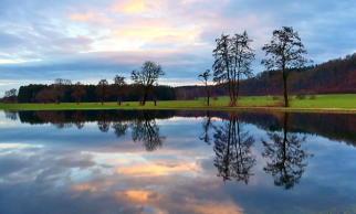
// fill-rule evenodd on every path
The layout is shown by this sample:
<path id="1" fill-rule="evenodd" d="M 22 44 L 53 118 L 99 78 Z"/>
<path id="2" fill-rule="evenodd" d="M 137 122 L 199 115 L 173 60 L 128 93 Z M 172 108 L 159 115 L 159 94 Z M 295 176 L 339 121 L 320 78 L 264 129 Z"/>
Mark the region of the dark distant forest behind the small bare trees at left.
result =
<path id="1" fill-rule="evenodd" d="M 52 85 L 28 85 L 21 86 L 18 95 L 18 103 L 75 103 L 76 85 L 63 84 L 61 87 Z M 98 93 L 97 85 L 81 85 L 81 101 L 92 103 L 101 101 L 102 97 Z M 140 98 L 139 88 L 135 85 L 124 85 L 121 88 L 121 97 L 118 97 L 116 85 L 107 85 L 107 94 L 103 97 L 104 101 L 117 101 L 118 98 L 123 101 L 137 101 Z M 148 99 L 157 98 L 158 100 L 174 100 L 176 99 L 175 89 L 169 86 L 155 86 L 154 95 L 150 94 Z"/>

